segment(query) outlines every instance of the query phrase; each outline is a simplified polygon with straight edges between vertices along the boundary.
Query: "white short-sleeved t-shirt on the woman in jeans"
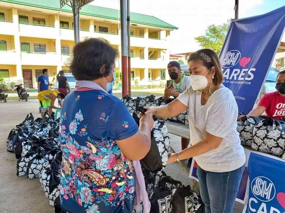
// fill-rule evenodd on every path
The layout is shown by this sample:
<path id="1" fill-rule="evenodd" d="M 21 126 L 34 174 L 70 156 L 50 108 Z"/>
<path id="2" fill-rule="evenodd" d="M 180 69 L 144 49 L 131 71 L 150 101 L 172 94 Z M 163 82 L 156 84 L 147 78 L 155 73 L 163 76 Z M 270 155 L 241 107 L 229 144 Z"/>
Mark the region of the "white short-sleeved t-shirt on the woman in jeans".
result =
<path id="1" fill-rule="evenodd" d="M 241 167 L 245 153 L 236 131 L 238 106 L 232 91 L 220 88 L 201 105 L 201 94 L 189 87 L 177 99 L 189 107 L 192 145 L 203 140 L 206 132 L 223 138 L 219 148 L 194 157 L 198 165 L 209 172 L 230 172 Z"/>

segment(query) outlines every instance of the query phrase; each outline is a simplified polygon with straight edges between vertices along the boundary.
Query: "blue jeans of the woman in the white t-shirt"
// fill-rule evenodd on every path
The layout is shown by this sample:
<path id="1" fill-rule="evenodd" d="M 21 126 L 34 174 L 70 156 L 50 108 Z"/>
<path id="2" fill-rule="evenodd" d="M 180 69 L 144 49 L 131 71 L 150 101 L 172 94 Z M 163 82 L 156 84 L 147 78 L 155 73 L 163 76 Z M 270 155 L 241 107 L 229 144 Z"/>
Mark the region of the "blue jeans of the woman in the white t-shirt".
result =
<path id="1" fill-rule="evenodd" d="M 230 172 L 208 172 L 198 166 L 197 175 L 205 213 L 231 213 L 245 165 Z"/>

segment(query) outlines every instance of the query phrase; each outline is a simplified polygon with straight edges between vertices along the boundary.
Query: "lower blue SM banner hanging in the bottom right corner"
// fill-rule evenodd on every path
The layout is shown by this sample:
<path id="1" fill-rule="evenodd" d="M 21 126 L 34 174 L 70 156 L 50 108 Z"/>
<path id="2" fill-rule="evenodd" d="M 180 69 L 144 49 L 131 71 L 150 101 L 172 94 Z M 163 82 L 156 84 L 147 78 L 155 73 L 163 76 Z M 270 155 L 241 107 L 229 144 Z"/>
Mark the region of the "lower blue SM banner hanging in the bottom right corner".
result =
<path id="1" fill-rule="evenodd" d="M 243 212 L 285 212 L 285 161 L 251 152 L 248 173 L 249 196 Z"/>

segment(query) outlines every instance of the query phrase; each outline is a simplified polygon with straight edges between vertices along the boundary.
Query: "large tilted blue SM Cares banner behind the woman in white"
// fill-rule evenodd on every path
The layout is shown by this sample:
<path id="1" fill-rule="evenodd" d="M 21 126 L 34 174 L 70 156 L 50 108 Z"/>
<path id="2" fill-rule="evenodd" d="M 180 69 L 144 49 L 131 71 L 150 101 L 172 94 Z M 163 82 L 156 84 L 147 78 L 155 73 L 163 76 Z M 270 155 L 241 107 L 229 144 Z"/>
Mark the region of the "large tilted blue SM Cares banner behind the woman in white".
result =
<path id="1" fill-rule="evenodd" d="M 285 27 L 285 6 L 267 14 L 233 20 L 220 52 L 223 84 L 240 112 L 252 110 Z"/>

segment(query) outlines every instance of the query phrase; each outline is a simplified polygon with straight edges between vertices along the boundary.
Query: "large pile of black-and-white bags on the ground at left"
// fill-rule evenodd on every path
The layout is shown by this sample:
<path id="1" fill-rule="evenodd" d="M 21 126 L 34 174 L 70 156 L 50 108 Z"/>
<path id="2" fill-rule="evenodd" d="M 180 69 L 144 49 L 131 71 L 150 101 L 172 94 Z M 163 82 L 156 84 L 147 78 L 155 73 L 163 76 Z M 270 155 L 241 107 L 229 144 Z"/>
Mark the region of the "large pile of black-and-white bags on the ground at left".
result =
<path id="1" fill-rule="evenodd" d="M 15 153 L 17 176 L 40 178 L 40 183 L 54 205 L 59 196 L 62 151 L 59 146 L 59 119 L 54 114 L 34 120 L 32 113 L 12 129 L 6 141 L 7 151 Z"/>

